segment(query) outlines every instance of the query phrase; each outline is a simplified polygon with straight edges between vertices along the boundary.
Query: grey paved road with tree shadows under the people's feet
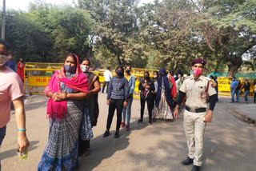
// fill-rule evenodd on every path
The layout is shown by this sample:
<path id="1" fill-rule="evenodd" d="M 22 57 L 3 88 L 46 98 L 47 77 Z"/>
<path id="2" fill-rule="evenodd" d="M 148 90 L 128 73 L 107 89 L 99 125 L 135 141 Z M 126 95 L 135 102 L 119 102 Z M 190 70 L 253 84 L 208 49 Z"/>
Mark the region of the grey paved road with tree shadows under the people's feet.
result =
<path id="1" fill-rule="evenodd" d="M 16 156 L 16 123 L 14 115 L 7 126 L 6 138 L 0 149 L 2 171 L 34 171 L 42 157 L 48 136 L 46 97 L 33 95 L 26 104 L 27 135 L 30 140 L 29 159 L 20 161 Z M 79 171 L 190 171 L 192 166 L 182 166 L 186 157 L 186 137 L 182 128 L 182 114 L 178 121 L 157 121 L 154 125 L 138 124 L 140 103 L 132 106 L 131 130 L 121 130 L 121 137 L 114 138 L 115 117 L 110 137 L 103 138 L 106 128 L 106 93 L 100 93 L 100 116 L 94 127 L 89 157 L 79 159 Z M 230 104 L 221 97 L 214 110 L 213 122 L 206 127 L 205 153 L 202 170 L 206 171 L 253 171 L 256 158 L 256 127 L 239 121 L 229 113 L 233 107 L 246 113 L 246 105 Z M 244 110 L 242 110 L 242 108 Z M 250 105 L 255 111 L 256 105 Z"/>

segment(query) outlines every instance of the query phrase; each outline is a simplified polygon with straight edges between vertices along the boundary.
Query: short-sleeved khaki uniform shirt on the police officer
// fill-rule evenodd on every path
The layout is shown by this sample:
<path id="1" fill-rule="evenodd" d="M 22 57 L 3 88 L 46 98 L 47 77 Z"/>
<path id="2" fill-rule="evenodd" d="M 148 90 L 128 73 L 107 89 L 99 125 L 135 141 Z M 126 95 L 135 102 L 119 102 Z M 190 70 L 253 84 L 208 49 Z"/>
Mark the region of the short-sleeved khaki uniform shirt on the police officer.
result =
<path id="1" fill-rule="evenodd" d="M 186 93 L 186 106 L 191 109 L 207 108 L 206 89 L 208 82 L 208 96 L 210 97 L 216 94 L 213 82 L 210 78 L 200 76 L 197 81 L 194 80 L 194 76 L 185 78 L 182 87 L 179 90 Z"/>

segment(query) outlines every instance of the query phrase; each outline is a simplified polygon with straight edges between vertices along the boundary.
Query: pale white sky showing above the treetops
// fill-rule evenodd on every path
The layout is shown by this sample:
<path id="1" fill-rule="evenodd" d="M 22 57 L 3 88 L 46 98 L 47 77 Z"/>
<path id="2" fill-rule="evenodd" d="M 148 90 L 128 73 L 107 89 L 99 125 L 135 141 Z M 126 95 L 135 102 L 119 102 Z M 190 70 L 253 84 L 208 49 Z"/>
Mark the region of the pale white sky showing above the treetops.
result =
<path id="1" fill-rule="evenodd" d="M 27 10 L 29 2 L 33 0 L 6 0 L 6 8 L 14 10 Z M 72 4 L 73 0 L 46 0 L 46 2 L 54 3 L 56 5 Z M 77 2 L 77 0 L 75 0 Z M 154 2 L 154 0 L 141 0 L 140 5 L 147 2 Z M 0 0 L 0 7 L 2 10 L 2 0 Z"/>

